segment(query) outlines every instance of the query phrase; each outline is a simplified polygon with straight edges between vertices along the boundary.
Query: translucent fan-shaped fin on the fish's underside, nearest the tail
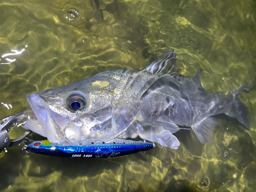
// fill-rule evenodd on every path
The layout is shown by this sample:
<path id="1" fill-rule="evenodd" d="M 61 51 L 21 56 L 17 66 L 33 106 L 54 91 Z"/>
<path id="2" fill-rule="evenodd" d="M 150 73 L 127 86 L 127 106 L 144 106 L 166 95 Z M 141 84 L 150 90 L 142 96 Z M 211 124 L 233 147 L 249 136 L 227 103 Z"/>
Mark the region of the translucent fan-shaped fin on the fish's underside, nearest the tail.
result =
<path id="1" fill-rule="evenodd" d="M 214 117 L 206 117 L 200 122 L 191 126 L 196 133 L 198 139 L 203 144 L 214 142 L 214 130 L 217 125 L 217 120 Z"/>

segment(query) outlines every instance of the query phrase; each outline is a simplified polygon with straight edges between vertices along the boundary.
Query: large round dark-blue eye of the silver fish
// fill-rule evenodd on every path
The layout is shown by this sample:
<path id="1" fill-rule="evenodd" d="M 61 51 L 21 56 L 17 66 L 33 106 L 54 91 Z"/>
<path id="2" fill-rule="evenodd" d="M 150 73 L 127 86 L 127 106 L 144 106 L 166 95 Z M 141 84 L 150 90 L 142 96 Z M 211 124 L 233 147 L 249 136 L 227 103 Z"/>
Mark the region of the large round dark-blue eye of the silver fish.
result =
<path id="1" fill-rule="evenodd" d="M 68 106 L 68 109 L 70 109 L 71 111 L 78 111 L 83 108 L 86 108 L 87 101 L 82 94 L 73 93 L 69 95 L 67 99 L 67 106 Z"/>

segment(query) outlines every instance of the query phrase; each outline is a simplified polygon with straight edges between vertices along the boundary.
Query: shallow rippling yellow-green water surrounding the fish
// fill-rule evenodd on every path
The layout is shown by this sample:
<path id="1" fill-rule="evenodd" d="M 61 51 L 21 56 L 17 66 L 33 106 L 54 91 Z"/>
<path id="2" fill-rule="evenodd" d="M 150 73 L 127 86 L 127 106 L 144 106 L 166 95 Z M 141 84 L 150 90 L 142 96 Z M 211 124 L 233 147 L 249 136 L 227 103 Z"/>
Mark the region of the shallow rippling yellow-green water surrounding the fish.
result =
<path id="1" fill-rule="evenodd" d="M 30 109 L 27 94 L 106 70 L 143 69 L 173 48 L 178 72 L 190 77 L 201 68 L 209 92 L 256 81 L 252 0 L 0 0 L 0 15 L 1 119 Z M 5 55 L 11 50 L 20 54 Z M 255 88 L 240 94 L 251 130 L 220 118 L 209 145 L 183 130 L 178 150 L 155 147 L 111 161 L 9 148 L 0 153 L 0 190 L 255 191 L 255 95 Z"/>

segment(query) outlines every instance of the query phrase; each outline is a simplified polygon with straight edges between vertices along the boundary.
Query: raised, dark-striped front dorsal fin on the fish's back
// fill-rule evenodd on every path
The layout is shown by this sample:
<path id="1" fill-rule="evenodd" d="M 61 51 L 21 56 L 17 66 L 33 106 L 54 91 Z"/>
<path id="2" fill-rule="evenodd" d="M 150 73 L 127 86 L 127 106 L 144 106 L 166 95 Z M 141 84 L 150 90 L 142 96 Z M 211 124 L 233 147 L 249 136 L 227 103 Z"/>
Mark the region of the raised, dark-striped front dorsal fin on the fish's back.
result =
<path id="1" fill-rule="evenodd" d="M 162 59 L 159 60 L 157 58 L 143 70 L 146 70 L 153 74 L 158 74 L 159 76 L 162 76 L 164 74 L 174 74 L 176 73 L 175 61 L 176 54 L 174 53 L 174 50 L 169 50 L 167 53 L 164 54 L 164 57 Z"/>

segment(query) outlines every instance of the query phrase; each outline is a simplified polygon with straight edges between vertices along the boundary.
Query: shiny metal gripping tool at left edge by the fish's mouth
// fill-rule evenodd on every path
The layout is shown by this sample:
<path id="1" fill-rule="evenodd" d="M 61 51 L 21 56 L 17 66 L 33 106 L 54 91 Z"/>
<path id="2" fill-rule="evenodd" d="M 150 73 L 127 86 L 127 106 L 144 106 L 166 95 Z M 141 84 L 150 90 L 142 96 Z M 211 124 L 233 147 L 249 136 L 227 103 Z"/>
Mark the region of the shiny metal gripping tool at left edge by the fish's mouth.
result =
<path id="1" fill-rule="evenodd" d="M 4 123 L 0 125 L 0 151 L 5 150 L 7 147 L 12 147 L 22 143 L 25 137 L 31 134 L 31 131 L 26 131 L 23 136 L 16 139 L 10 139 L 8 134 L 13 126 L 17 125 L 20 120 L 24 119 L 31 113 L 33 113 L 32 110 L 27 110 L 4 119 Z"/>

